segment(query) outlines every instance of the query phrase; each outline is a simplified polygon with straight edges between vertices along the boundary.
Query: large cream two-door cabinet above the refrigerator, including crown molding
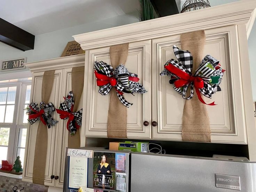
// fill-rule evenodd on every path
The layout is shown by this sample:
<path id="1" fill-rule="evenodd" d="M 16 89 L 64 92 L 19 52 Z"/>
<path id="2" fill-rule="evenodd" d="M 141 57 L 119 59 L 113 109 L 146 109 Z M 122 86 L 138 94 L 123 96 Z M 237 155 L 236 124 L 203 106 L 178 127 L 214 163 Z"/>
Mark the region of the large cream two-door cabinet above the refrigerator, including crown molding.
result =
<path id="1" fill-rule="evenodd" d="M 107 137 L 109 96 L 98 93 L 94 62 L 110 63 L 110 46 L 129 42 L 126 66 L 138 73 L 148 90 L 125 94 L 134 103 L 127 109 L 128 138 L 182 141 L 185 100 L 173 90 L 169 78 L 160 76 L 164 64 L 176 59 L 173 45 L 181 48 L 182 33 L 205 30 L 203 56 L 210 54 L 226 69 L 222 91 L 203 97 L 210 118 L 211 142 L 248 144 L 250 160 L 256 160 L 255 120 L 251 91 L 247 38 L 255 20 L 255 0 L 246 0 L 189 13 L 177 14 L 112 29 L 74 35 L 86 50 L 82 135 Z M 144 126 L 143 122 L 149 125 Z M 83 141 L 85 144 L 85 141 Z"/>

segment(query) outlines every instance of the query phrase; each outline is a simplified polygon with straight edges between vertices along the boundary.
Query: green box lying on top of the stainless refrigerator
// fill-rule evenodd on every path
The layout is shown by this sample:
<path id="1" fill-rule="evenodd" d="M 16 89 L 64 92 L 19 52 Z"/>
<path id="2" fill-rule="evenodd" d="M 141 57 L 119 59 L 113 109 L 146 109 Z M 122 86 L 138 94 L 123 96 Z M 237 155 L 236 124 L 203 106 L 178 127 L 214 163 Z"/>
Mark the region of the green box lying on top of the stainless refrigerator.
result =
<path id="1" fill-rule="evenodd" d="M 133 152 L 148 152 L 147 146 L 149 142 L 119 142 L 118 150 L 133 151 Z"/>

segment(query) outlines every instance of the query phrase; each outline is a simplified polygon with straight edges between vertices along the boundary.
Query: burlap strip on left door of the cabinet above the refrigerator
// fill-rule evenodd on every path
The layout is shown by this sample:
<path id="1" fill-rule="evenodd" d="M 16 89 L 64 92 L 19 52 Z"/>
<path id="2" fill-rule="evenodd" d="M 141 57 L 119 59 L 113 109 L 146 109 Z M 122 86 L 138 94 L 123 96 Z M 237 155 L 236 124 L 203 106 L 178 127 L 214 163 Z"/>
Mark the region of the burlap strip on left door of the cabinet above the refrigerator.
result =
<path id="1" fill-rule="evenodd" d="M 129 43 L 110 47 L 111 65 L 115 69 L 120 64 L 125 65 Z M 126 106 L 117 97 L 115 89 L 110 91 L 109 114 L 107 118 L 107 137 L 127 138 L 126 134 Z"/>

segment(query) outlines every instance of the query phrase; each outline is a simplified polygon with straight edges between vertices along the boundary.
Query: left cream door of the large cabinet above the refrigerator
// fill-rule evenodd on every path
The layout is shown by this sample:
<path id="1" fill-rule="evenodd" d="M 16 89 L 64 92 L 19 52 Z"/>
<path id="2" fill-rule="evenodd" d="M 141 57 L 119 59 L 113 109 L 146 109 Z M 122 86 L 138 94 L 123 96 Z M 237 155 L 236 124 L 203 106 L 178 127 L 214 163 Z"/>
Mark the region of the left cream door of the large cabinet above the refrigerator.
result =
<path id="1" fill-rule="evenodd" d="M 124 94 L 126 100 L 133 103 L 127 108 L 127 137 L 151 138 L 151 41 L 140 41 L 129 44 L 125 66 L 129 72 L 138 74 L 139 83 L 148 91 L 145 94 Z M 110 94 L 102 96 L 98 93 L 94 75 L 94 62 L 110 62 L 109 47 L 86 51 L 85 88 L 83 99 L 83 134 L 89 137 L 107 137 L 107 117 Z M 117 119 L 117 121 L 119 121 Z M 149 126 L 143 122 L 148 121 Z"/>

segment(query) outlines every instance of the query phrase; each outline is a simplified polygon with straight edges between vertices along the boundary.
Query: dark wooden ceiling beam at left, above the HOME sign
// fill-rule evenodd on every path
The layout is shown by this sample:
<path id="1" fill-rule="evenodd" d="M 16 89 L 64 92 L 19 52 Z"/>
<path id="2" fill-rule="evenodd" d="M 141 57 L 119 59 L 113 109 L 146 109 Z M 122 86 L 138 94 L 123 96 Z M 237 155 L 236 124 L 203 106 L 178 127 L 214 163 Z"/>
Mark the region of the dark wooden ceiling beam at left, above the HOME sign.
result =
<path id="1" fill-rule="evenodd" d="M 22 51 L 34 49 L 35 35 L 0 18 L 0 41 Z"/>

